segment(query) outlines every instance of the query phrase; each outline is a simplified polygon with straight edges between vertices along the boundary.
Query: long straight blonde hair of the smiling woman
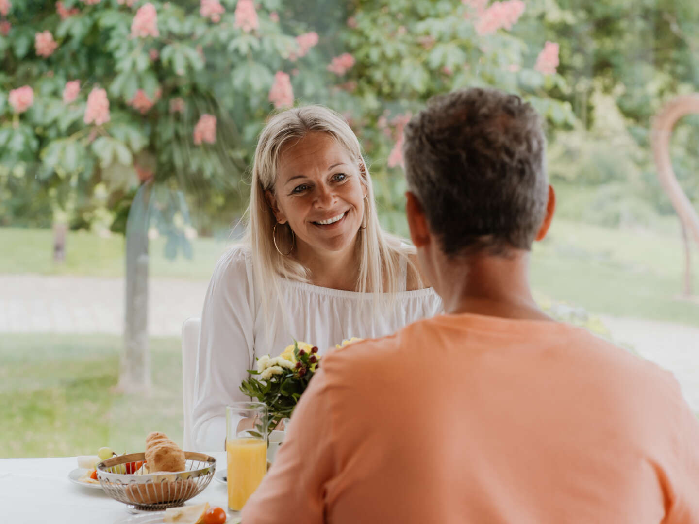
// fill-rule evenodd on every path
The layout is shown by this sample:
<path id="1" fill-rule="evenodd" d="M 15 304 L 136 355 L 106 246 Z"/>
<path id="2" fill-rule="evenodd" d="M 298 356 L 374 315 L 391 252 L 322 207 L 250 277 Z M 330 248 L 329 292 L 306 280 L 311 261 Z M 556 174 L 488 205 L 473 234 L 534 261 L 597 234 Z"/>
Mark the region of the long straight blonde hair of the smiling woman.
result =
<path id="1" fill-rule="evenodd" d="M 278 224 L 273 237 L 277 220 L 266 201 L 265 191 L 274 191 L 278 160 L 284 147 L 312 132 L 327 133 L 349 153 L 358 163 L 361 184 L 366 188 L 364 217 L 357 233 L 359 276 L 354 291 L 374 293 L 376 300 L 394 296 L 400 289 L 401 259 L 405 259 L 419 281 L 415 265 L 408 258 L 415 248 L 381 229 L 371 178 L 354 132 L 338 112 L 322 105 L 306 105 L 273 115 L 262 130 L 255 150 L 246 240 L 252 252 L 254 284 L 260 292 L 265 314 L 270 312 L 271 300 L 280 299 L 277 275 L 309 282 L 307 268 L 277 249 L 282 253 L 291 252 L 293 233 L 288 225 Z M 387 294 L 382 295 L 384 292 Z"/>

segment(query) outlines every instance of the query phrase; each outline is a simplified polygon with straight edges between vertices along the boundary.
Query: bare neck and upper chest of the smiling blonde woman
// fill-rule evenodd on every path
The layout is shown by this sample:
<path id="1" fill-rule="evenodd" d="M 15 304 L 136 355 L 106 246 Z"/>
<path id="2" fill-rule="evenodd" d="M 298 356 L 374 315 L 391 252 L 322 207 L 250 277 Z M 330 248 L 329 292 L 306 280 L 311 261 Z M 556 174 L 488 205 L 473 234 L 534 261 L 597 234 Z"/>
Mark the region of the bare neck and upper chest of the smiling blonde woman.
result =
<path id="1" fill-rule="evenodd" d="M 340 252 L 322 252 L 308 245 L 299 245 L 296 259 L 310 270 L 312 284 L 347 291 L 356 289 L 359 260 L 354 244 Z"/>

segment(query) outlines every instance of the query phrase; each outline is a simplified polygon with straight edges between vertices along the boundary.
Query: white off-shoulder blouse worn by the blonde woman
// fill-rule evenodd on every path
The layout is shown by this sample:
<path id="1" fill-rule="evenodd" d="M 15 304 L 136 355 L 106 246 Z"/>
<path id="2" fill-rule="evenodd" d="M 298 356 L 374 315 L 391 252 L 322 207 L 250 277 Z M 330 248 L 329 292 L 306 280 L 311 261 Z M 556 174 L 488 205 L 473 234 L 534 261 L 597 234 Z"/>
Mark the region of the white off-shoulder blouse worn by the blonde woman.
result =
<path id="1" fill-rule="evenodd" d="M 403 268 L 405 282 L 405 268 Z M 280 279 L 281 314 L 266 323 L 259 291 L 254 289 L 252 259 L 245 246 L 233 247 L 216 265 L 203 311 L 194 385 L 193 439 L 196 449 L 222 449 L 226 405 L 249 400 L 240 392 L 257 358 L 280 354 L 294 339 L 315 344 L 319 354 L 350 337 L 373 338 L 442 312 L 431 288 L 399 291 L 391 307 L 373 307 L 371 293 L 329 289 Z M 403 286 L 405 288 L 405 284 Z"/>

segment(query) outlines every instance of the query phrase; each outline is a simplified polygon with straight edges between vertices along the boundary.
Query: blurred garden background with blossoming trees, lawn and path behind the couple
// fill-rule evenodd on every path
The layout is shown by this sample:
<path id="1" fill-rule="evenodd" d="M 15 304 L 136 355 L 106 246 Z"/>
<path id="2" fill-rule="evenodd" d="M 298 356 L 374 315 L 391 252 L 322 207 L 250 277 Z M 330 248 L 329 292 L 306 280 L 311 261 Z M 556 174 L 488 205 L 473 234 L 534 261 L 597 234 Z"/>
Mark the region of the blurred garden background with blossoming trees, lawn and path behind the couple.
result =
<path id="1" fill-rule="evenodd" d="M 699 412 L 698 245 L 651 150 L 699 92 L 696 0 L 0 0 L 0 457 L 182 444 L 180 328 L 242 232 L 271 111 L 342 113 L 406 235 L 403 126 L 473 86 L 547 121 L 542 307 L 675 372 Z M 696 213 L 699 116 L 669 151 Z"/>

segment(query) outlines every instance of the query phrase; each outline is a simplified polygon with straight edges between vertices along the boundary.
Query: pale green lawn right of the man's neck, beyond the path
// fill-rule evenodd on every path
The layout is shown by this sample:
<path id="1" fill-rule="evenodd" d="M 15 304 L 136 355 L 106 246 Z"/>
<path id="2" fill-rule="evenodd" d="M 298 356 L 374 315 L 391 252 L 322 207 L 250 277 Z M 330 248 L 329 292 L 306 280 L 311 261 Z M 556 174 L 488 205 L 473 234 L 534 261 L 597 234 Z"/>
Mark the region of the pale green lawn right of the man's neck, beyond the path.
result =
<path id="1" fill-rule="evenodd" d="M 693 289 L 699 293 L 694 249 Z M 699 326 L 699 300 L 679 298 L 684 252 L 679 234 L 554 222 L 535 245 L 533 287 L 591 312 Z"/>

